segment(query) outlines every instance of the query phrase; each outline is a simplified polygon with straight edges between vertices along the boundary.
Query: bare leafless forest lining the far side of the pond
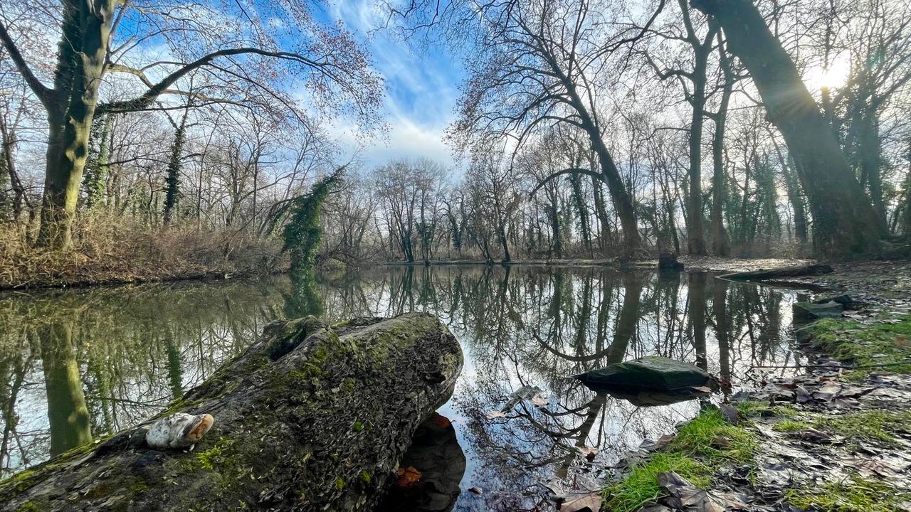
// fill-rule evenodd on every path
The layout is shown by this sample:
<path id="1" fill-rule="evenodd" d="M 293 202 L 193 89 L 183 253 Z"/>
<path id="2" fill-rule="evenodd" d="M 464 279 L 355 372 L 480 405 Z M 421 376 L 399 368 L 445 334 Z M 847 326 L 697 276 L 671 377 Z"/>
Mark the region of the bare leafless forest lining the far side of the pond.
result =
<path id="1" fill-rule="evenodd" d="M 908 6 L 718 4 L 375 6 L 377 30 L 465 72 L 452 159 L 370 162 L 384 77 L 318 4 L 5 2 L 9 280 L 71 264 L 61 250 L 113 266 L 160 257 L 143 247 L 176 267 L 272 254 L 282 206 L 336 172 L 321 261 L 901 249 Z"/>

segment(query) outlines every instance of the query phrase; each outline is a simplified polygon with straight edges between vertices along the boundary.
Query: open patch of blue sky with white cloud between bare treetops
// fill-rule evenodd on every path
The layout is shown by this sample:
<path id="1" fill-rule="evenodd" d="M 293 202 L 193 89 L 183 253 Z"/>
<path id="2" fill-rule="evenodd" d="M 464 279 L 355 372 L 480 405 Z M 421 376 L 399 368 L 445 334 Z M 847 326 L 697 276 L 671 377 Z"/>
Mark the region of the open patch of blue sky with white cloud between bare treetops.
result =
<path id="1" fill-rule="evenodd" d="M 452 163 L 442 138 L 454 118 L 464 76 L 461 63 L 443 45 L 413 47 L 389 31 L 376 30 L 384 21 L 376 2 L 339 0 L 330 8 L 333 17 L 363 38 L 385 78 L 384 114 L 390 129 L 385 137 L 363 143 L 364 163 L 374 166 L 403 157 Z"/>

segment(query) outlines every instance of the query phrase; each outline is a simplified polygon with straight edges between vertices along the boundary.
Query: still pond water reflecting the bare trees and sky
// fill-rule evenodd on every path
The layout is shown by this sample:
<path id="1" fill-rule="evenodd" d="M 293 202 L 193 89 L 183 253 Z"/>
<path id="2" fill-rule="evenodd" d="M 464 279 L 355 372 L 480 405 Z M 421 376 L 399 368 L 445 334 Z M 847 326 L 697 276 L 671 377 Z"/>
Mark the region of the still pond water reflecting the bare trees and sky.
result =
<path id="1" fill-rule="evenodd" d="M 787 372 L 798 363 L 788 336 L 797 298 L 705 273 L 481 266 L 386 267 L 310 286 L 275 277 L 7 292 L 0 474 L 157 413 L 276 317 L 427 311 L 466 356 L 440 410 L 466 461 L 452 465 L 455 510 L 532 510 L 544 484 L 597 488 L 619 455 L 699 408 L 637 406 L 568 376 L 643 355 L 699 364 L 734 387 Z M 517 396 L 524 386 L 540 391 Z"/>

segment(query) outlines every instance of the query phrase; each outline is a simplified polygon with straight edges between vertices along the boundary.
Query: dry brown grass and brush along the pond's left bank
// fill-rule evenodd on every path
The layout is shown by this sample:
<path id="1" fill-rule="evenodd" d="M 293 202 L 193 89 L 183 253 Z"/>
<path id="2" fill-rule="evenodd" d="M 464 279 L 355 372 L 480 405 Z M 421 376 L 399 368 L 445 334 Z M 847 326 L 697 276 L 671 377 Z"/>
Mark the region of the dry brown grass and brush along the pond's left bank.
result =
<path id="1" fill-rule="evenodd" d="M 71 251 L 34 247 L 30 238 L 23 225 L 0 225 L 0 289 L 216 278 L 285 265 L 275 241 L 131 218 L 80 217 Z"/>

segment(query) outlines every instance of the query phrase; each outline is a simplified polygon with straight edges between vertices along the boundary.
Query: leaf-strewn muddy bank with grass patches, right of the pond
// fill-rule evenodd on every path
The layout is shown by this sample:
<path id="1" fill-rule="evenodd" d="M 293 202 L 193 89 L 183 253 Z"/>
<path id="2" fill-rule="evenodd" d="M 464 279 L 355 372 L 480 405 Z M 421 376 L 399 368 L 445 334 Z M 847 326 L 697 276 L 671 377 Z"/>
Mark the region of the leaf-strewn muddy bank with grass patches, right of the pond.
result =
<path id="1" fill-rule="evenodd" d="M 796 332 L 805 373 L 706 404 L 643 445 L 606 484 L 606 509 L 911 510 L 911 262 L 834 267 L 792 280 L 860 302 Z"/>

